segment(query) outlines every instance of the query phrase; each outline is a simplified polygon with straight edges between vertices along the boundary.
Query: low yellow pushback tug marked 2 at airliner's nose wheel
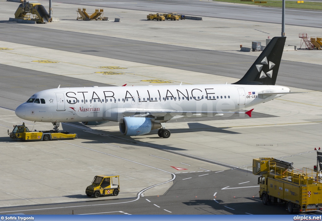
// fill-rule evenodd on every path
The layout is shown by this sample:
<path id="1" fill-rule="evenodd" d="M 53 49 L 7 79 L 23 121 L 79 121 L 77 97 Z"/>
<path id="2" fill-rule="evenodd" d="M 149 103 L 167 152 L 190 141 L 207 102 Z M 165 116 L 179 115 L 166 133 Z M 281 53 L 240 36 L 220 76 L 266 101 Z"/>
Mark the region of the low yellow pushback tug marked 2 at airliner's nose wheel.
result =
<path id="1" fill-rule="evenodd" d="M 77 138 L 77 134 L 71 134 L 68 131 L 29 131 L 25 125 L 15 125 L 14 129 L 8 135 L 11 139 L 25 140 L 25 141 L 49 141 Z"/>

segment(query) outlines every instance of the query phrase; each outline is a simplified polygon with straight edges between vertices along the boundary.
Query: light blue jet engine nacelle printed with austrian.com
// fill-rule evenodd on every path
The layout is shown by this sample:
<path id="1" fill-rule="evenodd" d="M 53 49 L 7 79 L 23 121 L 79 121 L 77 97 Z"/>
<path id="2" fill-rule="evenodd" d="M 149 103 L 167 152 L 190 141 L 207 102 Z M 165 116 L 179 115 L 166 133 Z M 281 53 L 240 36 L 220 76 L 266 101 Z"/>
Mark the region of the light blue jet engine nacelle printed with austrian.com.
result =
<path id="1" fill-rule="evenodd" d="M 150 133 L 151 130 L 161 128 L 160 123 L 151 121 L 147 117 L 123 117 L 119 122 L 120 132 L 127 136 L 137 136 Z"/>

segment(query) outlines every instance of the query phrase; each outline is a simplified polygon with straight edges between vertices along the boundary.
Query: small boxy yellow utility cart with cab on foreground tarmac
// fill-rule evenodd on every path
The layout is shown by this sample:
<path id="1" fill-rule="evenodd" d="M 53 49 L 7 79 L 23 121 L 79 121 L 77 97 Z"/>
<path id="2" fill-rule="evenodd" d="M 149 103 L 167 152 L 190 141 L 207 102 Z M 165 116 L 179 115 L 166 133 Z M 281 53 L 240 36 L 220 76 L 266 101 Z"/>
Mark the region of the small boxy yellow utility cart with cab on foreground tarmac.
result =
<path id="1" fill-rule="evenodd" d="M 110 194 L 117 196 L 119 191 L 120 184 L 118 175 L 98 175 L 94 177 L 92 185 L 86 188 L 85 193 L 88 197 L 94 195 L 95 198 L 99 198 L 99 196 L 107 196 Z"/>

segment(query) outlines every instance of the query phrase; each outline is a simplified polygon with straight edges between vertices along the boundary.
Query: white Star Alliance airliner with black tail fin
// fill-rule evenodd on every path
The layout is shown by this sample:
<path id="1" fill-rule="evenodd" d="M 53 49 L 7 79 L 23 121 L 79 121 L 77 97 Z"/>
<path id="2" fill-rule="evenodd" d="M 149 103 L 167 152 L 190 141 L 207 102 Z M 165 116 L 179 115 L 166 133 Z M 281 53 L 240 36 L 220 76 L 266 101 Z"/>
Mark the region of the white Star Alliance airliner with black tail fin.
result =
<path id="1" fill-rule="evenodd" d="M 82 122 L 99 125 L 119 122 L 123 135 L 136 136 L 159 129 L 170 137 L 165 122 L 185 117 L 240 114 L 239 110 L 289 94 L 275 86 L 285 37 L 273 38 L 245 76 L 234 84 L 137 87 L 55 88 L 34 94 L 15 110 L 37 122 Z M 251 116 L 250 111 L 245 112 Z"/>

